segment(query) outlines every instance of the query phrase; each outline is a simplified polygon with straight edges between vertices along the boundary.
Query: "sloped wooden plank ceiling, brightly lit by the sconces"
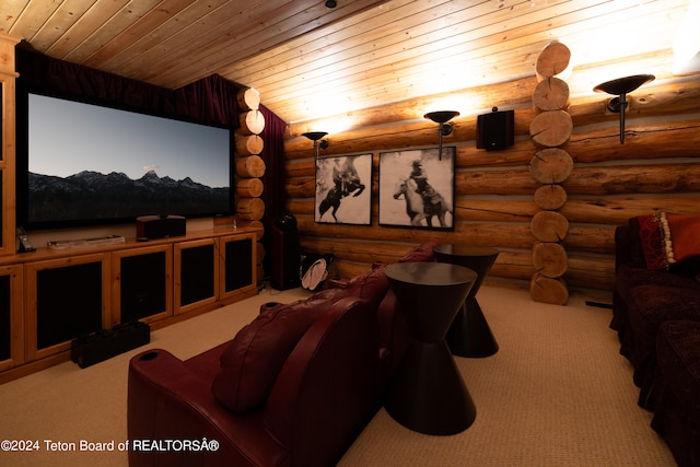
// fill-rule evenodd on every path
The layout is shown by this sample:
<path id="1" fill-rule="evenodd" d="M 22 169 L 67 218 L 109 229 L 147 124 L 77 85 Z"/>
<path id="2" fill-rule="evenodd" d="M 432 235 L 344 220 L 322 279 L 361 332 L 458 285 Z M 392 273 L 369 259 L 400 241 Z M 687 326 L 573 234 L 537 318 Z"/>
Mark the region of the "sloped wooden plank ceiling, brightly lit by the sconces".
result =
<path id="1" fill-rule="evenodd" d="M 2 0 L 0 32 L 171 89 L 219 73 L 299 122 L 532 77 L 552 40 L 571 49 L 572 95 L 669 78 L 692 1 Z"/>

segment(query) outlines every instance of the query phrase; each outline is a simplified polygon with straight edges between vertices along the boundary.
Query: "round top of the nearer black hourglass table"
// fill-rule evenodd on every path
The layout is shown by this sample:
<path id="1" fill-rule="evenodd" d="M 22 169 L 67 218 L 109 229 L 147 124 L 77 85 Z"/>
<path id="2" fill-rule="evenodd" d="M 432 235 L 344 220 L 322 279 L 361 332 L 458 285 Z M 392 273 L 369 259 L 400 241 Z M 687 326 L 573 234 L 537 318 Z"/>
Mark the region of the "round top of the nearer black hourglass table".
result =
<path id="1" fill-rule="evenodd" d="M 447 262 L 396 262 L 384 269 L 387 278 L 416 285 L 456 285 L 474 282 L 477 273 Z"/>

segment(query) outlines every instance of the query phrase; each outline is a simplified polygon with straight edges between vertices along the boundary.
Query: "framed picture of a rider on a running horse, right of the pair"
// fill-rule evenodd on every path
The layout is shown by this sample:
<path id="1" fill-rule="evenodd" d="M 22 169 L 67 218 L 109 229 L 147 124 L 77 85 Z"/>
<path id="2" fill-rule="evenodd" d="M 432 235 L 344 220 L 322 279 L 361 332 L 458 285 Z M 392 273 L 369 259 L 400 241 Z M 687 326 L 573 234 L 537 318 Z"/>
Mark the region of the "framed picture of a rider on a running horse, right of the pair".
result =
<path id="1" fill-rule="evenodd" d="M 454 230 L 456 153 L 454 147 L 380 153 L 380 225 Z"/>

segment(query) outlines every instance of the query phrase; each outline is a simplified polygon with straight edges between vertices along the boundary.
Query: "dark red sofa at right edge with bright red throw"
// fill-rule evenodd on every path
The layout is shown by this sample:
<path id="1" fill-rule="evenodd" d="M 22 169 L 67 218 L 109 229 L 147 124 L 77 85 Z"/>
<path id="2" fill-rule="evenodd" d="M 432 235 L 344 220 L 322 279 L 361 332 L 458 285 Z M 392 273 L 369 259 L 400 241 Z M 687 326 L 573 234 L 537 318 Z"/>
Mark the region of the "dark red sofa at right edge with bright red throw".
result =
<path id="1" fill-rule="evenodd" d="M 700 465 L 700 215 L 667 219 L 640 215 L 616 229 L 610 327 L 634 369 L 639 405 L 689 467 Z"/>

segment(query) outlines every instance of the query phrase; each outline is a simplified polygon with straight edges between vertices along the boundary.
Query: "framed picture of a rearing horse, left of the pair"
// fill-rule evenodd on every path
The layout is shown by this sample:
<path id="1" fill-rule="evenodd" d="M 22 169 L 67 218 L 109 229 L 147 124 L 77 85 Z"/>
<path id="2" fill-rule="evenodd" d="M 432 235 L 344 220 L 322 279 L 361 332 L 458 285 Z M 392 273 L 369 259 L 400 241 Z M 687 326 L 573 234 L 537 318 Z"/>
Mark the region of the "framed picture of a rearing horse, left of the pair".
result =
<path id="1" fill-rule="evenodd" d="M 314 220 L 317 223 L 372 223 L 372 153 L 316 160 Z"/>

